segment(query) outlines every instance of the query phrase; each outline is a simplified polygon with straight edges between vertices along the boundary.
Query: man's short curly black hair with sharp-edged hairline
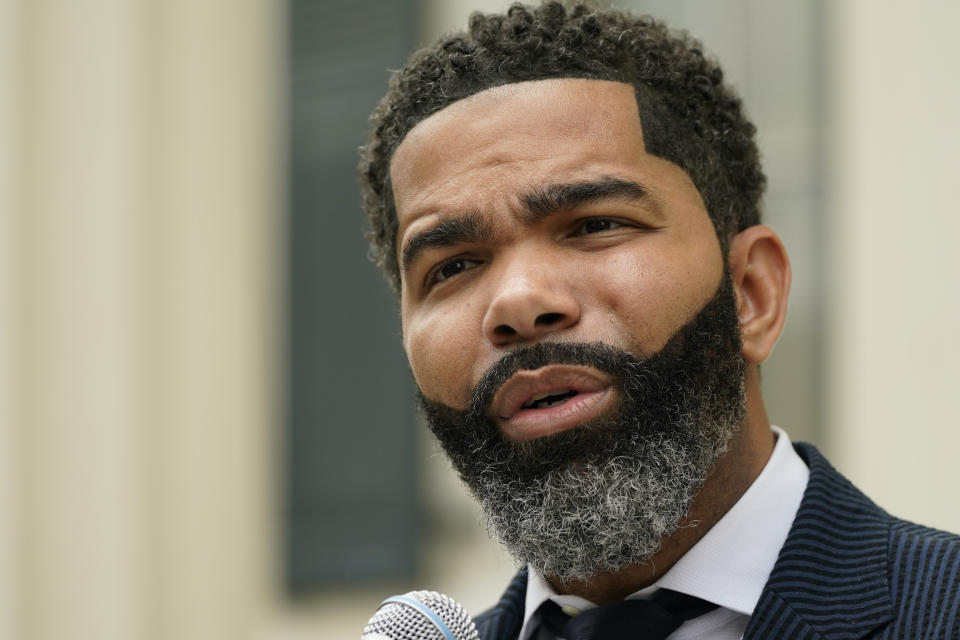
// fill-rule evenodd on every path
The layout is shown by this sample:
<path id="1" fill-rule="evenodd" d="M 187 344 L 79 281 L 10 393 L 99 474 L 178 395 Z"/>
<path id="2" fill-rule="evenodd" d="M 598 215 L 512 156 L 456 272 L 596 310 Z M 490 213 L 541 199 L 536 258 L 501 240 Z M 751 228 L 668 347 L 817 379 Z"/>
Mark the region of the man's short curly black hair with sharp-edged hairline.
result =
<path id="1" fill-rule="evenodd" d="M 559 2 L 474 13 L 467 32 L 415 52 L 390 78 L 361 149 L 371 258 L 399 292 L 390 159 L 420 121 L 457 100 L 513 82 L 593 78 L 633 85 L 647 152 L 679 165 L 700 191 L 726 252 L 760 222 L 766 178 L 740 98 L 688 34 L 649 17 Z"/>

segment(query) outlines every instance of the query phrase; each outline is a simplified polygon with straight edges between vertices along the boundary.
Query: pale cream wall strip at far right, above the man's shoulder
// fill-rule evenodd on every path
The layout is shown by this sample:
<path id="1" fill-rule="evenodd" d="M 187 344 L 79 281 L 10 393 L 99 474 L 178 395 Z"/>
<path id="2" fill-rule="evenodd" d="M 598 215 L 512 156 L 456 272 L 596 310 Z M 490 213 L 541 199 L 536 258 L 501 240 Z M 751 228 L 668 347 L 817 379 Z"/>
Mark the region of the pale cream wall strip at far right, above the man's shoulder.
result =
<path id="1" fill-rule="evenodd" d="M 960 5 L 828 4 L 829 446 L 889 511 L 960 531 Z"/>

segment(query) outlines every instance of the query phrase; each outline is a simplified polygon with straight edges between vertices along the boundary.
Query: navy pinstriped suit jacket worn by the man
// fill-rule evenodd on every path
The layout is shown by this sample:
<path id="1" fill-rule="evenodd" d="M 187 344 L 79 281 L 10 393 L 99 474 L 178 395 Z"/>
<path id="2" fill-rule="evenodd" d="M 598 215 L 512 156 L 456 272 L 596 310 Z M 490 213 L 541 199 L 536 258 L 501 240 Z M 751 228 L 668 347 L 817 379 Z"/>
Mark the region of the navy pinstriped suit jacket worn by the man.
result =
<path id="1" fill-rule="evenodd" d="M 745 640 L 960 638 L 960 537 L 890 516 L 795 448 L 810 480 Z M 521 571 L 475 619 L 483 640 L 515 640 L 526 591 Z"/>

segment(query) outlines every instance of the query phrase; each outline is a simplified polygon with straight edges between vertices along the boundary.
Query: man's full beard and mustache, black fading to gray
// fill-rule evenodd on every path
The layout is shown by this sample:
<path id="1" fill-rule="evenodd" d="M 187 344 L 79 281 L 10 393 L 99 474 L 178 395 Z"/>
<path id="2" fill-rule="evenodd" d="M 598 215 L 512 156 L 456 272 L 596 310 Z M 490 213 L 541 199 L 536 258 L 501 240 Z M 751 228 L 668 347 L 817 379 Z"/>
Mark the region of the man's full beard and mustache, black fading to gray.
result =
<path id="1" fill-rule="evenodd" d="M 515 349 L 477 385 L 471 408 L 418 395 L 430 427 L 520 563 L 585 580 L 646 562 L 688 515 L 745 414 L 736 296 L 729 273 L 713 299 L 646 360 L 602 343 Z M 515 371 L 549 363 L 622 376 L 616 415 L 529 443 L 486 417 Z"/>

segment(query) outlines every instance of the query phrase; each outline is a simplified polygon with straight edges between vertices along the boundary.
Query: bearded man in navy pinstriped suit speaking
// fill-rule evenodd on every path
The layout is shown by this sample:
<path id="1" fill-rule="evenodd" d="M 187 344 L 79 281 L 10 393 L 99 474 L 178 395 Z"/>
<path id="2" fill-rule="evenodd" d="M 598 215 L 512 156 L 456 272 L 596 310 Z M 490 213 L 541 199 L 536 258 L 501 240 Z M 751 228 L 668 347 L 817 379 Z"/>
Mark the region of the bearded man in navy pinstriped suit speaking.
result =
<path id="1" fill-rule="evenodd" d="M 698 43 L 558 3 L 474 15 L 374 112 L 420 403 L 524 565 L 482 637 L 960 637 L 960 540 L 767 418 L 790 265 L 753 135 Z"/>

